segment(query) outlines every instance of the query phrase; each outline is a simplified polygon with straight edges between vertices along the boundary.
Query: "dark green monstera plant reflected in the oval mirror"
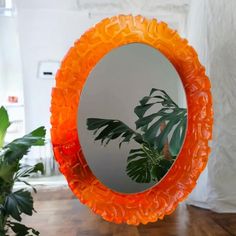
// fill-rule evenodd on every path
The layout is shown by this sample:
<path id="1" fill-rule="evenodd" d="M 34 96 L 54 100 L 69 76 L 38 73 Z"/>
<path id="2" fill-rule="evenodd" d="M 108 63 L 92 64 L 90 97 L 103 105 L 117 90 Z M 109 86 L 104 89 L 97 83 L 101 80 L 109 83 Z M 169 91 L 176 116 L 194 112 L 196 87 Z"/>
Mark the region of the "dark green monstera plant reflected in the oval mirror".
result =
<path id="1" fill-rule="evenodd" d="M 155 105 L 161 109 L 150 114 Z M 160 106 L 158 106 L 160 107 Z M 136 130 L 120 120 L 88 118 L 87 129 L 102 145 L 119 138 L 122 143 L 134 140 L 139 148 L 131 149 L 127 158 L 127 175 L 138 183 L 159 181 L 178 155 L 185 137 L 187 109 L 180 108 L 161 89 L 153 88 L 134 109 Z"/>

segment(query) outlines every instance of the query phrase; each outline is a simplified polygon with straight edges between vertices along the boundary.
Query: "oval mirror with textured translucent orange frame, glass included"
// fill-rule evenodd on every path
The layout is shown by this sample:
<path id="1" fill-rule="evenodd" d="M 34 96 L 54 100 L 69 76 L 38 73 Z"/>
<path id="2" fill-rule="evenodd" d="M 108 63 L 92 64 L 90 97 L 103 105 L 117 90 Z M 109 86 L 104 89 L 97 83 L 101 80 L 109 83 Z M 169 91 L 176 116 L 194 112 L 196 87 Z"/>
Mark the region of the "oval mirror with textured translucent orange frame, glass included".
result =
<path id="1" fill-rule="evenodd" d="M 210 82 L 187 40 L 155 19 L 120 15 L 87 31 L 62 61 L 51 112 L 60 171 L 105 220 L 162 219 L 207 164 Z"/>

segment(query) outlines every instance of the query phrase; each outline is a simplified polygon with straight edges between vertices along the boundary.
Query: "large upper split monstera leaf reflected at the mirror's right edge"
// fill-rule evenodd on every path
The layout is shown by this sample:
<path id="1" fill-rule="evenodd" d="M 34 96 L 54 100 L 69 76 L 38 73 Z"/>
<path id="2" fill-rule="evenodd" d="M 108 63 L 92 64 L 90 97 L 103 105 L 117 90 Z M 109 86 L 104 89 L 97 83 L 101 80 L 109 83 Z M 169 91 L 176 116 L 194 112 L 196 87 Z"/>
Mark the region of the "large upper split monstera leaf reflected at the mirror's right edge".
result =
<path id="1" fill-rule="evenodd" d="M 155 104 L 161 104 L 163 108 L 145 116 Z M 186 131 L 186 108 L 180 108 L 164 90 L 152 89 L 149 96 L 139 101 L 134 112 L 138 116 L 138 120 L 135 122 L 136 128 L 145 131 L 142 135 L 145 142 L 161 152 L 170 136 L 169 149 L 171 154 L 176 156 L 179 153 Z M 165 127 L 161 130 L 160 127 L 163 124 Z"/>

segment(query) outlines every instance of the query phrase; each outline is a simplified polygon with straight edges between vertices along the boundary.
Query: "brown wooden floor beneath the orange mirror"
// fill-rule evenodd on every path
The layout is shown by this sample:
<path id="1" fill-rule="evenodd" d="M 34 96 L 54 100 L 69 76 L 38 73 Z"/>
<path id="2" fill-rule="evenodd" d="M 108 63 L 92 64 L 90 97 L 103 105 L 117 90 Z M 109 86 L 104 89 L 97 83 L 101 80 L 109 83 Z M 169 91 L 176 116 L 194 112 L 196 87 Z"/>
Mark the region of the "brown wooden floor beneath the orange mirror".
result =
<path id="1" fill-rule="evenodd" d="M 38 213 L 24 217 L 42 236 L 229 236 L 236 235 L 236 214 L 217 214 L 181 204 L 164 220 L 138 227 L 108 223 L 74 199 L 69 190 L 39 193 Z"/>

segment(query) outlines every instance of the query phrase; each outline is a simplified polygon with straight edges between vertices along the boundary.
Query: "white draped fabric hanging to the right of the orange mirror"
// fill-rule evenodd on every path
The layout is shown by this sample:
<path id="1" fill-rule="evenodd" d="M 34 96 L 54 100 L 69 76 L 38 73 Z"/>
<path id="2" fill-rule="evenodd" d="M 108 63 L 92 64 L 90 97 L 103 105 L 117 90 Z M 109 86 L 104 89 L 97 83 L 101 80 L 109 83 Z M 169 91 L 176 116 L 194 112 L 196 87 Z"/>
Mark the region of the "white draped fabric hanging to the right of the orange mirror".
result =
<path id="1" fill-rule="evenodd" d="M 236 1 L 192 0 L 188 39 L 206 66 L 214 103 L 212 152 L 187 202 L 236 212 Z"/>

